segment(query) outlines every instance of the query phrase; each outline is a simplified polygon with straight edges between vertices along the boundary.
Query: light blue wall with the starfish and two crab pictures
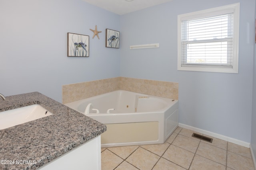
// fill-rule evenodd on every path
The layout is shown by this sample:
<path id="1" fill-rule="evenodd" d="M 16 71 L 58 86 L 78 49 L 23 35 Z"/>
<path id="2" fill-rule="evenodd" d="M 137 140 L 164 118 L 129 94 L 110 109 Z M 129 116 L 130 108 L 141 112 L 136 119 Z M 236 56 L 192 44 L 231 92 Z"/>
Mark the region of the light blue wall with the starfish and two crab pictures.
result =
<path id="1" fill-rule="evenodd" d="M 64 84 L 119 76 L 120 49 L 105 47 L 106 28 L 119 30 L 120 16 L 82 0 L 1 0 L 0 93 L 62 102 Z M 89 57 L 67 57 L 68 32 L 90 36 Z"/>

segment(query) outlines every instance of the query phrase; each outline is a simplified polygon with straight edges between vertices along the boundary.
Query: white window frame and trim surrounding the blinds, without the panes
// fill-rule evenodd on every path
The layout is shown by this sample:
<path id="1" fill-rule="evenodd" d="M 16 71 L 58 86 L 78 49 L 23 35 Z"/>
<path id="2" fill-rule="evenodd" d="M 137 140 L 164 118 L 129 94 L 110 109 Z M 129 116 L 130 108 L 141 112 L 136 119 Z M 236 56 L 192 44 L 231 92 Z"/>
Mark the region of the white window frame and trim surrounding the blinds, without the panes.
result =
<path id="1" fill-rule="evenodd" d="M 186 64 L 182 65 L 182 21 L 197 19 L 202 17 L 218 16 L 222 14 L 233 13 L 234 27 L 233 27 L 233 64 L 232 67 L 214 65 L 214 64 Z M 240 3 L 230 4 L 208 10 L 201 10 L 187 14 L 178 15 L 178 70 L 186 71 L 202 71 L 202 72 L 225 72 L 238 73 L 238 45 L 239 45 L 239 13 Z M 215 41 L 215 40 L 213 40 Z M 220 41 L 218 41 L 220 42 Z"/>

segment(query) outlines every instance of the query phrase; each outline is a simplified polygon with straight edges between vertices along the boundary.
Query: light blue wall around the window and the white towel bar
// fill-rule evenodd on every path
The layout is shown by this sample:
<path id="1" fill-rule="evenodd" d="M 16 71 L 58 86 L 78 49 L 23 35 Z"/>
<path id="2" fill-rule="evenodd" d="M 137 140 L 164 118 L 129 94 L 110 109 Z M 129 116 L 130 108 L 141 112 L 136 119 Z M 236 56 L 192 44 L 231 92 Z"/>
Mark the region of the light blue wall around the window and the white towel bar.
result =
<path id="1" fill-rule="evenodd" d="M 177 70 L 177 16 L 240 2 L 239 73 Z M 255 0 L 173 0 L 120 18 L 120 76 L 179 83 L 179 122 L 250 143 Z M 157 49 L 130 45 L 160 43 Z"/>

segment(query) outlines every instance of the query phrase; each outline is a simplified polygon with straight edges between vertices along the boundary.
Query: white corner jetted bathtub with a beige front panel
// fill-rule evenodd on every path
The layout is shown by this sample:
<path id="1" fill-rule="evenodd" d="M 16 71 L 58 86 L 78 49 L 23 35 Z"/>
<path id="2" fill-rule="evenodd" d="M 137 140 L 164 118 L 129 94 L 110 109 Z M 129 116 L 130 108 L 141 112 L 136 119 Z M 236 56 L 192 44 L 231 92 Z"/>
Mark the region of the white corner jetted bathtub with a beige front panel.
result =
<path id="1" fill-rule="evenodd" d="M 117 90 L 65 104 L 106 124 L 102 147 L 164 143 L 178 127 L 178 100 Z"/>

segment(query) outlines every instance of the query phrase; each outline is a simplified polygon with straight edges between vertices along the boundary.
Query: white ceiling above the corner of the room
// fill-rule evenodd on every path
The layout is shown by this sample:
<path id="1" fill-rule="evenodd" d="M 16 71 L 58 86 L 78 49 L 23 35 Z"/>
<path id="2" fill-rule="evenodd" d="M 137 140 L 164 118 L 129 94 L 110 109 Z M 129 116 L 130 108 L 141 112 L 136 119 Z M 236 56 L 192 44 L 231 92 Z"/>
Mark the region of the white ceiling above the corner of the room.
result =
<path id="1" fill-rule="evenodd" d="M 127 14 L 150 6 L 156 6 L 170 2 L 172 0 L 132 0 L 130 2 L 126 0 L 83 0 L 89 4 L 98 6 L 107 11 L 114 12 L 118 15 Z"/>

